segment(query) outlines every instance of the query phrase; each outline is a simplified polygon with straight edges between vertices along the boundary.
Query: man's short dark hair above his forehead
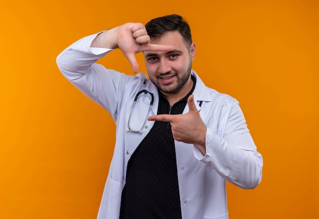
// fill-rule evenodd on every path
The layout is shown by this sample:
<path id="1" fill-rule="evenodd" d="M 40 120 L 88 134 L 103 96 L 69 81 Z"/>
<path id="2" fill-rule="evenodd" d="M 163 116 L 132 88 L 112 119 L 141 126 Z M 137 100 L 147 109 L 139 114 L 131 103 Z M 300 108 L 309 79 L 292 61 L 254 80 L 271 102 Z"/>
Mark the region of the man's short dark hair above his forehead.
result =
<path id="1" fill-rule="evenodd" d="M 154 18 L 147 22 L 145 27 L 151 39 L 161 38 L 167 32 L 178 30 L 188 48 L 193 42 L 190 25 L 177 14 Z"/>

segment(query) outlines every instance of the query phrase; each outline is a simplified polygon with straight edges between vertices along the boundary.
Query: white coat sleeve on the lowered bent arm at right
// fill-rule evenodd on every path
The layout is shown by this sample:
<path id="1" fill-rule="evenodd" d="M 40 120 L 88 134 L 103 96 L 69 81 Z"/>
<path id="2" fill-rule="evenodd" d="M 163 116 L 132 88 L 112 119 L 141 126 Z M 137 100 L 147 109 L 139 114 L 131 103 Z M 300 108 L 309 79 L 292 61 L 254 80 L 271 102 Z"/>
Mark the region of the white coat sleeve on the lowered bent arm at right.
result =
<path id="1" fill-rule="evenodd" d="M 261 181 L 263 160 L 239 103 L 233 99 L 227 107 L 221 107 L 219 114 L 217 128 L 207 126 L 206 155 L 195 145 L 194 155 L 225 180 L 243 189 L 253 189 Z"/>

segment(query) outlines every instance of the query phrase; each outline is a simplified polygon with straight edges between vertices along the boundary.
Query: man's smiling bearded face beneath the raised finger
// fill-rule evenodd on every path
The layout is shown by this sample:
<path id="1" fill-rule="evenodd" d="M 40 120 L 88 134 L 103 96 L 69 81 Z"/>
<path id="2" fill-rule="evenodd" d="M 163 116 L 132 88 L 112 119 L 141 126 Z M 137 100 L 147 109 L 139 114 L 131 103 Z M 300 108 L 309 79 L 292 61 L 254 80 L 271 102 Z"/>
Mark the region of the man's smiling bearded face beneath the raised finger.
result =
<path id="1" fill-rule="evenodd" d="M 165 93 L 182 93 L 183 88 L 191 84 L 192 61 L 196 47 L 192 43 L 190 50 L 178 31 L 168 32 L 163 37 L 151 40 L 152 44 L 173 46 L 169 52 L 144 52 L 145 65 L 150 80 Z"/>

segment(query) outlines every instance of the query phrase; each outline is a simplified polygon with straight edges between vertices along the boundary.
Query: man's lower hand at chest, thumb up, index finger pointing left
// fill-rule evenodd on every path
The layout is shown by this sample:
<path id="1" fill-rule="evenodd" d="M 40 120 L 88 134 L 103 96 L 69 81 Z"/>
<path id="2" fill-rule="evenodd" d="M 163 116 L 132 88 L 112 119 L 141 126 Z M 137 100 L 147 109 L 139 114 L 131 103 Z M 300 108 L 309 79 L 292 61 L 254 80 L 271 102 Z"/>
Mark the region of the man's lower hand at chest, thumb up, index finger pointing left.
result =
<path id="1" fill-rule="evenodd" d="M 189 144 L 195 144 L 199 150 L 206 154 L 206 126 L 203 123 L 196 105 L 194 103 L 194 95 L 191 95 L 187 104 L 189 112 L 186 114 L 177 115 L 153 115 L 148 117 L 150 121 L 166 121 L 170 122 L 172 126 L 173 138 L 176 141 L 182 141 Z"/>

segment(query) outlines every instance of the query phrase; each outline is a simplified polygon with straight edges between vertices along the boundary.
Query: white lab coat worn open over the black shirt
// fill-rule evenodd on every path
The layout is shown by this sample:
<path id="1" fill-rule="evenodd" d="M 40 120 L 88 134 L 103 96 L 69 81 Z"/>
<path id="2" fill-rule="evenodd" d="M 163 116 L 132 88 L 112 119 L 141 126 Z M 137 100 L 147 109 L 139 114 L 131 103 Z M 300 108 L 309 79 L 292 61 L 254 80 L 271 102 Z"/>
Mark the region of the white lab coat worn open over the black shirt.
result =
<path id="1" fill-rule="evenodd" d="M 129 114 L 136 94 L 146 89 L 154 94 L 149 115 L 155 115 L 158 91 L 143 73 L 125 75 L 96 64 L 99 58 L 112 50 L 90 48 L 95 36 L 85 37 L 66 48 L 58 56 L 57 64 L 63 75 L 108 110 L 116 123 L 114 154 L 97 218 L 117 219 L 127 162 L 154 124 L 154 121 L 146 121 L 142 133 L 128 132 Z M 196 77 L 194 101 L 207 126 L 206 155 L 195 145 L 175 141 L 182 218 L 226 219 L 225 180 L 243 189 L 253 189 L 261 180 L 263 161 L 238 102 L 206 87 L 193 70 L 192 74 Z M 131 129 L 142 127 L 150 101 L 148 93 L 141 93 L 131 115 Z M 188 111 L 186 106 L 183 113 Z"/>

